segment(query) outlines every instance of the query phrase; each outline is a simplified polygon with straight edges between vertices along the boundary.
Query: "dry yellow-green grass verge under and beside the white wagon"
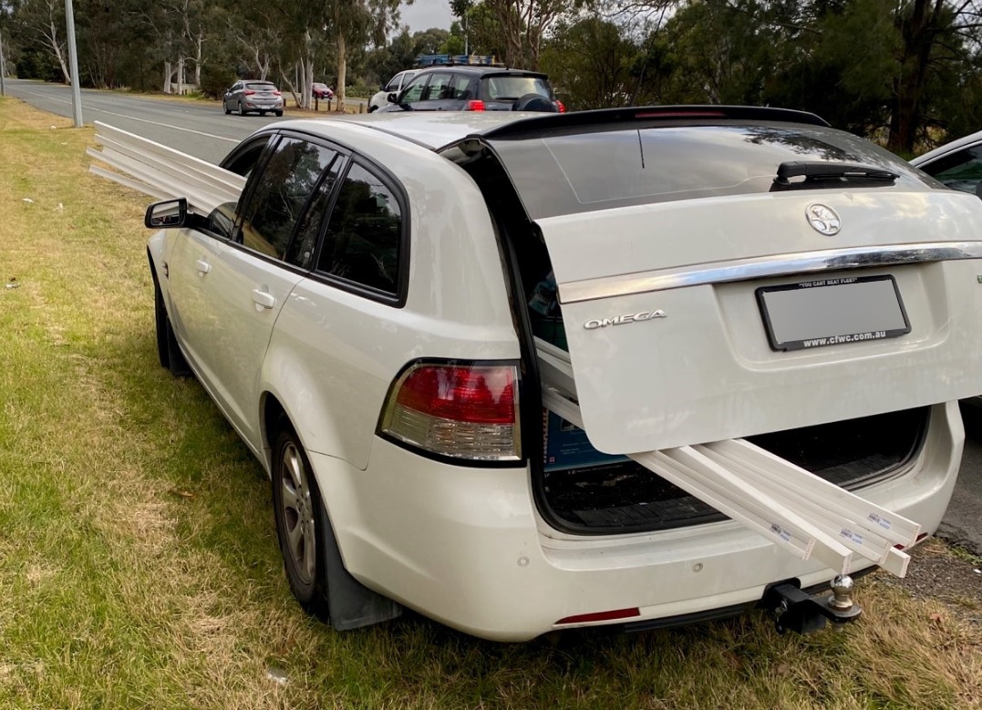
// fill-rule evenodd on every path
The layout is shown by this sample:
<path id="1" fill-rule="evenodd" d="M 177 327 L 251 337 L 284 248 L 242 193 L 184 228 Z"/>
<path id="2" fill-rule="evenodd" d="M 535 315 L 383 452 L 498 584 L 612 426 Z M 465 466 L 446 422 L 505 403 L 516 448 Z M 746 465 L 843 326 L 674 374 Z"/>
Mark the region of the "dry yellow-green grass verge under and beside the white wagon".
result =
<path id="1" fill-rule="evenodd" d="M 860 622 L 807 637 L 307 619 L 258 464 L 156 362 L 145 201 L 89 177 L 69 126 L 0 99 L 0 707 L 982 707 L 982 628 L 876 578 Z"/>

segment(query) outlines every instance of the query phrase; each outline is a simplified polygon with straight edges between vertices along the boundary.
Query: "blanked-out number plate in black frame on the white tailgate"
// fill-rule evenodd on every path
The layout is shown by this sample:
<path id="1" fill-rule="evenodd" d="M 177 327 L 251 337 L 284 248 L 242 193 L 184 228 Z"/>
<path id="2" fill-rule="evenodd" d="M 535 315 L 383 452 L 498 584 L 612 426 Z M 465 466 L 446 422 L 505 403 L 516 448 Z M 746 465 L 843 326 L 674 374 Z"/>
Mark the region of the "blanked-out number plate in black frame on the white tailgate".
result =
<path id="1" fill-rule="evenodd" d="M 805 350 L 910 332 L 893 276 L 804 281 L 757 289 L 771 348 Z"/>

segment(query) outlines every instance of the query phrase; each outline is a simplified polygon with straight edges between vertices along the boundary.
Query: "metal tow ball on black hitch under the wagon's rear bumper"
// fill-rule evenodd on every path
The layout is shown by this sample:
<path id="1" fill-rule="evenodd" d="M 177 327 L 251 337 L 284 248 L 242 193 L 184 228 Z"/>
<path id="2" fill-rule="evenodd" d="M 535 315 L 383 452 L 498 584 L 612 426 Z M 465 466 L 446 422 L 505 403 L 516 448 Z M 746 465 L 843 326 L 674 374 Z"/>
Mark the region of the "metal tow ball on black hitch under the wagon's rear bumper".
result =
<path id="1" fill-rule="evenodd" d="M 862 608 L 852 601 L 852 577 L 841 574 L 830 586 L 831 594 L 812 595 L 793 581 L 779 582 L 764 592 L 761 605 L 774 614 L 778 633 L 808 633 L 825 628 L 827 622 L 843 625 L 858 619 Z"/>

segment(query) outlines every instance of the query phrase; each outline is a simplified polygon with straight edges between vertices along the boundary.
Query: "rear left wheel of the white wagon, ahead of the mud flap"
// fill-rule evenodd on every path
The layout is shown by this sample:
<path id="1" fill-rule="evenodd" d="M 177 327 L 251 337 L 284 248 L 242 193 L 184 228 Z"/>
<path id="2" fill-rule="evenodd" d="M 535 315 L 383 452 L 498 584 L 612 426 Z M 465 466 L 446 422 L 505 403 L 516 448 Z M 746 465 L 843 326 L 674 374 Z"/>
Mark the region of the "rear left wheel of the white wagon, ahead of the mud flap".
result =
<path id="1" fill-rule="evenodd" d="M 290 590 L 309 614 L 330 622 L 325 529 L 330 522 L 310 461 L 293 426 L 283 421 L 273 448 L 273 514 Z"/>

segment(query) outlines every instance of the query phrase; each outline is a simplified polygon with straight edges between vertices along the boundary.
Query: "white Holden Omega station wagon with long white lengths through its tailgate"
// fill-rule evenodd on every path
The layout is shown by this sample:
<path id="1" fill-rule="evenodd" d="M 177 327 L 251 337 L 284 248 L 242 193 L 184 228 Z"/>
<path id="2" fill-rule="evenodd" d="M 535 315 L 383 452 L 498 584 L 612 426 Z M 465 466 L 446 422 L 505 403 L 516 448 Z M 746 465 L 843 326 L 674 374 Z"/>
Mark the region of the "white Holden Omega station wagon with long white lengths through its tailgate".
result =
<path id="1" fill-rule="evenodd" d="M 160 362 L 336 628 L 843 621 L 945 513 L 982 202 L 811 114 L 300 120 L 223 167 L 147 212 Z"/>

